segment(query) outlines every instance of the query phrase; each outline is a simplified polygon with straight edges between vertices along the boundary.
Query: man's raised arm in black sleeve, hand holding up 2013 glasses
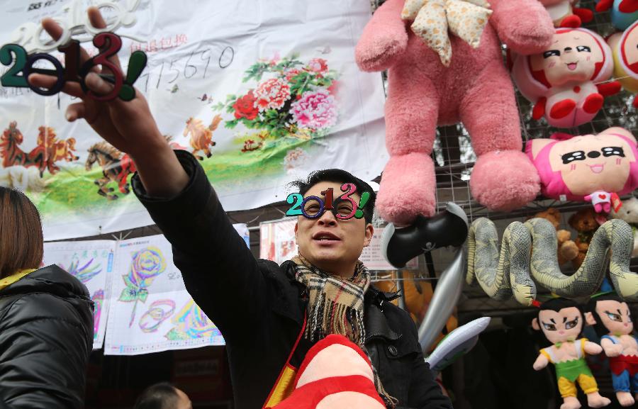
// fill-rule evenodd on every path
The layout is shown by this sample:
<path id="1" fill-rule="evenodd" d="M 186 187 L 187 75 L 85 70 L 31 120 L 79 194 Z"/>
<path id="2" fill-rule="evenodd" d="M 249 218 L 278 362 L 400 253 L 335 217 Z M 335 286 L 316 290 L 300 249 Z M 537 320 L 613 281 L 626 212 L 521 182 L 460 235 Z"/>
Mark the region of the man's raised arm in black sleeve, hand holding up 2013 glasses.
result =
<path id="1" fill-rule="evenodd" d="M 91 7 L 88 13 L 92 26 L 106 27 L 98 9 Z M 51 18 L 43 20 L 43 27 L 55 40 L 62 35 L 62 28 Z M 80 57 L 81 64 L 89 60 L 82 48 Z M 120 67 L 117 55 L 108 60 Z M 86 86 L 96 94 L 108 94 L 113 85 L 98 74 L 111 72 L 107 65 L 101 71 L 94 69 L 86 76 Z M 50 88 L 57 79 L 30 74 L 28 81 Z M 76 82 L 66 82 L 62 91 L 82 99 L 67 108 L 68 121 L 84 118 L 135 162 L 135 194 L 173 245 L 174 262 L 189 293 L 224 337 L 241 337 L 259 323 L 267 301 L 257 261 L 228 220 L 196 159 L 188 152 L 176 154 L 159 132 L 142 93 L 136 91 L 132 101 L 96 101 L 87 98 Z"/>

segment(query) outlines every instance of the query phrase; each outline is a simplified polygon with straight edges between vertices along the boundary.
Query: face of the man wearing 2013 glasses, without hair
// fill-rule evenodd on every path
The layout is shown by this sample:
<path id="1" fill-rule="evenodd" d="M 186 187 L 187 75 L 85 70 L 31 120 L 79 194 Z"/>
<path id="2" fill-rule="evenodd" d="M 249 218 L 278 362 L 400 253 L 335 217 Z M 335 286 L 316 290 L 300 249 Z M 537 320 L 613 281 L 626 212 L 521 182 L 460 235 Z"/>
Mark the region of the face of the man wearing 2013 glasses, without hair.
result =
<path id="1" fill-rule="evenodd" d="M 311 186 L 304 196 L 318 196 L 325 201 L 321 192 L 332 188 L 335 198 L 333 206 L 347 214 L 352 211 L 352 204 L 348 201 L 337 201 L 343 194 L 341 185 L 337 182 L 323 181 Z M 361 200 L 359 193 L 350 196 L 356 203 Z M 317 213 L 317 209 L 311 208 L 312 206 L 318 206 L 317 202 L 306 202 L 306 213 Z M 331 211 L 324 211 L 320 218 L 315 219 L 298 216 L 295 237 L 299 254 L 306 257 L 308 262 L 332 274 L 343 275 L 354 273 L 345 270 L 352 268 L 363 248 L 369 245 L 373 230 L 365 218 L 340 220 Z"/>

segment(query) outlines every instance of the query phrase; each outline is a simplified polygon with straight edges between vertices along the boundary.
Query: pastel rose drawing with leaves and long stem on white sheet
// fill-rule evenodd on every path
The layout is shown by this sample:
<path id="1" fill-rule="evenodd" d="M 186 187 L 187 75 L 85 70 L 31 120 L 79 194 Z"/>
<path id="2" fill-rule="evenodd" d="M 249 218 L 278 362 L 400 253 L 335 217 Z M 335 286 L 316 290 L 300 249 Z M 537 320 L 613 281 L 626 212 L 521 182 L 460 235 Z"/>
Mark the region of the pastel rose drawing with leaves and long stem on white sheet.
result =
<path id="1" fill-rule="evenodd" d="M 146 302 L 148 287 L 155 277 L 162 274 L 165 269 L 166 260 L 157 247 L 150 246 L 133 253 L 130 270 L 128 274 L 122 276 L 126 288 L 122 290 L 120 298 L 118 298 L 118 301 L 124 301 L 125 303 L 135 302 L 128 323 L 129 327 L 133 326 L 138 301 Z"/>

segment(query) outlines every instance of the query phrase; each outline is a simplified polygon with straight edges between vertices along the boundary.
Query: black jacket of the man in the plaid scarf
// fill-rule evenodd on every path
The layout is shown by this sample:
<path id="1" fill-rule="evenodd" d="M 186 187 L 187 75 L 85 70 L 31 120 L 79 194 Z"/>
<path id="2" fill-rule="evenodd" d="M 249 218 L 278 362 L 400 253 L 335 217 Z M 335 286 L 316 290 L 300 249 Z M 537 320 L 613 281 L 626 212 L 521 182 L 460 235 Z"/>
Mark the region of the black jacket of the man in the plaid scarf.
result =
<path id="1" fill-rule="evenodd" d="M 292 262 L 255 259 L 237 235 L 197 160 L 176 151 L 190 176 L 177 197 L 151 198 L 140 179 L 133 190 L 173 247 L 175 265 L 195 302 L 219 327 L 228 348 L 238 409 L 262 408 L 303 325 L 304 286 Z M 405 311 L 370 288 L 365 296 L 366 349 L 386 391 L 399 405 L 452 408 L 423 360 L 416 327 Z M 310 348 L 302 340 L 298 363 Z"/>

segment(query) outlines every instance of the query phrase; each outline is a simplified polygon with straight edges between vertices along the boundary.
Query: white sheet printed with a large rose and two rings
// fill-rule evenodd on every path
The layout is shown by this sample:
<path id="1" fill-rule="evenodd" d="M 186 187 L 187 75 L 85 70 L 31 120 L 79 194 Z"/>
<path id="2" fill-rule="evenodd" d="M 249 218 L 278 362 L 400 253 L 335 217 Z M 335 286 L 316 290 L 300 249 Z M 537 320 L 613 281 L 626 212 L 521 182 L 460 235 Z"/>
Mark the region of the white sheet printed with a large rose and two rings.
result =
<path id="1" fill-rule="evenodd" d="M 118 242 L 107 355 L 223 345 L 217 327 L 194 303 L 163 235 Z"/>

